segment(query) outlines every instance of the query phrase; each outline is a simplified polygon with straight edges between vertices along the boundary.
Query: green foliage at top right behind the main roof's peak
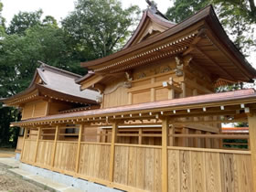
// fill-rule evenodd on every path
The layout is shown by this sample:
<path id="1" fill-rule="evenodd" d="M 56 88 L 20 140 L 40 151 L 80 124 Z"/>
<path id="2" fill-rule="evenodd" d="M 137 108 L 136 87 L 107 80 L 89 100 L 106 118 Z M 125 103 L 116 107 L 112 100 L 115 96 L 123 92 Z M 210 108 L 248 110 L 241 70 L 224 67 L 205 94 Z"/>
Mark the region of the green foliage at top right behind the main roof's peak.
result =
<path id="1" fill-rule="evenodd" d="M 251 50 L 256 48 L 255 26 L 251 25 L 256 24 L 256 10 L 252 2 L 253 0 L 176 0 L 174 6 L 168 8 L 166 16 L 178 23 L 212 4 L 229 37 L 236 47 L 248 56 Z"/>

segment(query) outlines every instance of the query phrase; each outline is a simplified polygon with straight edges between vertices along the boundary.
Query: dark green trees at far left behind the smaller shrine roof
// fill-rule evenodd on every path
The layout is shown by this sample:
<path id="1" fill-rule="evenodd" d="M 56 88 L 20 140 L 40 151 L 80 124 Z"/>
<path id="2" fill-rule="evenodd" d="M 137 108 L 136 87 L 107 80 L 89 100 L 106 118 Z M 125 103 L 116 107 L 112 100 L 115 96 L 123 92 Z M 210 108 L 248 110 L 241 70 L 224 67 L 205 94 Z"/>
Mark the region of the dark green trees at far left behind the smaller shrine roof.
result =
<path id="1" fill-rule="evenodd" d="M 52 20 L 52 19 L 51 19 Z M 37 60 L 82 73 L 80 60 L 72 56 L 63 30 L 52 22 L 28 27 L 21 34 L 0 38 L 0 98 L 24 91 L 38 67 Z M 16 144 L 18 129 L 9 124 L 20 119 L 15 108 L 0 103 L 0 145 Z"/>

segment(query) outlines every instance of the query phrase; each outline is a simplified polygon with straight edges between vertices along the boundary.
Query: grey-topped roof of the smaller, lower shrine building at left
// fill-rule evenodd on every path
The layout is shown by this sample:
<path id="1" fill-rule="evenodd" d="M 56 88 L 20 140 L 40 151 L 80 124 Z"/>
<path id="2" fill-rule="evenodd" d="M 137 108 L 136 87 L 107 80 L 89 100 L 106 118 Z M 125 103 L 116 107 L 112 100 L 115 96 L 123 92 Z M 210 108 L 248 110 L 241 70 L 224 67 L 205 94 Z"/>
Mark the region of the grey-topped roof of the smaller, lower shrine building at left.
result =
<path id="1" fill-rule="evenodd" d="M 28 86 L 27 90 L 17 93 L 16 95 L 2 99 L 4 102 L 17 102 L 21 97 L 26 96 L 32 91 L 38 90 L 40 95 L 59 97 L 66 101 L 79 101 L 86 103 L 96 103 L 96 98 L 99 96 L 97 91 L 84 90 L 80 91 L 80 85 L 75 80 L 81 76 L 64 69 L 58 69 L 42 63 L 37 68 L 34 78 Z"/>

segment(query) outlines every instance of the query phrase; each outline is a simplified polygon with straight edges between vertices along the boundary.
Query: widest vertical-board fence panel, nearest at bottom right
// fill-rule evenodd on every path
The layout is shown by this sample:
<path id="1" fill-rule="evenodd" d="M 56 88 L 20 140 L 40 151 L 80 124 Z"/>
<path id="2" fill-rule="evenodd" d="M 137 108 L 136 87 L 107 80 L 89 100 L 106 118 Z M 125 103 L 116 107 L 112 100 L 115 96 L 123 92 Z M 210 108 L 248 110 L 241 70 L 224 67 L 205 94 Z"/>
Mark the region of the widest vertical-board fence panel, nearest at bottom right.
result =
<path id="1" fill-rule="evenodd" d="M 251 155 L 168 149 L 168 192 L 253 191 Z"/>

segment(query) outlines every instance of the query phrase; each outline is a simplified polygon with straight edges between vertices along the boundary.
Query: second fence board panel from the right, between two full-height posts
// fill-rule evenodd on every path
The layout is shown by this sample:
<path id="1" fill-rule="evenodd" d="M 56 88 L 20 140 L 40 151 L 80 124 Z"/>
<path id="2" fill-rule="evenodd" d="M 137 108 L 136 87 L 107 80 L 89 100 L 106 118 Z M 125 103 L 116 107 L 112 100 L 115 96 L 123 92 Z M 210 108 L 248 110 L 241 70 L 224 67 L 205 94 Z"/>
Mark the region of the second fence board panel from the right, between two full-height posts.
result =
<path id="1" fill-rule="evenodd" d="M 148 191 L 162 191 L 161 149 L 115 146 L 114 183 Z"/>

